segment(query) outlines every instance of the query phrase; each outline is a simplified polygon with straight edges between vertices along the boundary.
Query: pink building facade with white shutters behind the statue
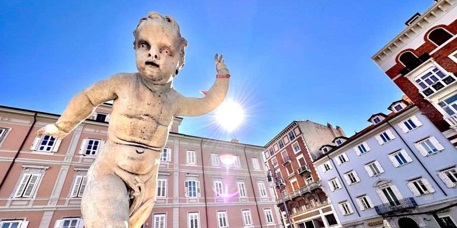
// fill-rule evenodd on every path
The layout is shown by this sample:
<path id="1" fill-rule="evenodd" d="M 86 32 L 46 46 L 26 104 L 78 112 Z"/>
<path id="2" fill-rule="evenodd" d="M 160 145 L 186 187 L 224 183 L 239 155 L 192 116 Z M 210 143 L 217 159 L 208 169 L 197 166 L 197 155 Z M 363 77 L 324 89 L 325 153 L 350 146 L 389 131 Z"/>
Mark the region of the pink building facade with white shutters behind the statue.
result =
<path id="1" fill-rule="evenodd" d="M 106 141 L 110 112 L 100 105 L 61 140 L 35 137 L 58 115 L 0 106 L 0 227 L 84 226 L 85 175 Z M 143 227 L 282 227 L 265 148 L 181 134 L 181 121 L 173 122 Z"/>

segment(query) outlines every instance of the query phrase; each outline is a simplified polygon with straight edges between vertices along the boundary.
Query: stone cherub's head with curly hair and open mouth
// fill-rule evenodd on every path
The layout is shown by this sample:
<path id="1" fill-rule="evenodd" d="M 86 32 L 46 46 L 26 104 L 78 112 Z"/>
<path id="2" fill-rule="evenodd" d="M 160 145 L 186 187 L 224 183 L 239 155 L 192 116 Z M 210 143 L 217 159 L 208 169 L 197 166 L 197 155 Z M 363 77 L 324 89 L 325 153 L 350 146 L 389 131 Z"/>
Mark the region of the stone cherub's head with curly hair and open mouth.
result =
<path id="1" fill-rule="evenodd" d="M 138 72 L 156 84 L 165 84 L 184 67 L 187 41 L 171 16 L 150 12 L 134 30 Z"/>

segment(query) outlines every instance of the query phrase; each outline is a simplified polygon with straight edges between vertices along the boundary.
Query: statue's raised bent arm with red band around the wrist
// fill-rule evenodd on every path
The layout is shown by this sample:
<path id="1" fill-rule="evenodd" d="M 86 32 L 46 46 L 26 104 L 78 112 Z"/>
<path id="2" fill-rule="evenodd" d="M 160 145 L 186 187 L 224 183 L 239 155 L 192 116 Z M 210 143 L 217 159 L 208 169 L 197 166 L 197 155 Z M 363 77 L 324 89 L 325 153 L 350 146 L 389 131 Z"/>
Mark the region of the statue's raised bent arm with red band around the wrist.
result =
<path id="1" fill-rule="evenodd" d="M 205 115 L 224 101 L 225 96 L 227 95 L 230 74 L 222 59 L 222 55 L 218 58 L 216 54 L 214 62 L 217 70 L 216 81 L 208 90 L 206 96 L 203 98 L 195 98 L 184 97 L 179 94 L 175 116 L 195 117 Z"/>

